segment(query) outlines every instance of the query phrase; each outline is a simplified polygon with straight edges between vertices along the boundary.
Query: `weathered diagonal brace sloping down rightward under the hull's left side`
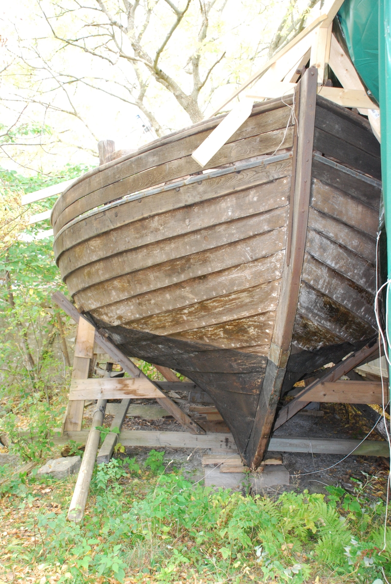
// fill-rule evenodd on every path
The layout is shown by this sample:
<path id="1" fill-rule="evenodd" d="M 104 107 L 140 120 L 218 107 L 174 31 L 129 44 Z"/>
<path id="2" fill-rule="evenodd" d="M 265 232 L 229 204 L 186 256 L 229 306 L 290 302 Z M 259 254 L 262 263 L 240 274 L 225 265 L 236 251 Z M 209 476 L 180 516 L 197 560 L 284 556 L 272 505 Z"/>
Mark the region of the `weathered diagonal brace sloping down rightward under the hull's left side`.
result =
<path id="1" fill-rule="evenodd" d="M 74 319 L 75 322 L 78 323 L 81 319 L 86 320 L 86 318 L 79 314 L 74 305 L 70 303 L 70 301 L 67 300 L 67 298 L 65 298 L 64 294 L 61 294 L 61 292 L 55 292 L 52 295 L 52 298 L 54 302 L 56 302 L 56 304 L 58 304 L 58 306 L 64 310 L 64 312 L 66 312 L 71 318 Z M 139 367 L 137 367 L 133 363 L 133 361 L 129 359 L 129 357 L 124 355 L 122 351 L 120 351 L 118 347 L 116 347 L 116 345 L 111 340 L 108 339 L 108 337 L 103 336 L 103 334 L 97 331 L 95 327 L 94 329 L 95 342 L 99 346 L 101 346 L 102 349 L 105 350 L 105 352 L 108 353 L 110 357 L 112 357 L 115 363 L 118 363 L 124 371 L 129 373 L 130 376 L 137 378 L 145 378 L 151 384 L 151 387 L 153 388 L 157 387 L 157 385 L 153 381 L 151 381 L 150 378 L 148 378 L 146 374 L 144 374 L 143 371 L 141 371 L 141 369 L 139 369 Z M 189 432 L 195 434 L 205 434 L 205 430 L 203 430 L 203 428 L 200 427 L 194 420 L 192 420 L 185 412 L 182 412 L 181 408 L 179 408 L 177 404 L 175 404 L 175 402 L 172 401 L 172 399 L 168 398 L 162 391 L 160 393 L 161 397 L 155 398 L 156 401 L 158 402 L 158 404 L 162 406 L 162 408 L 166 409 L 169 413 L 171 413 L 171 415 L 177 420 L 177 422 L 179 422 L 182 426 L 188 429 Z"/>

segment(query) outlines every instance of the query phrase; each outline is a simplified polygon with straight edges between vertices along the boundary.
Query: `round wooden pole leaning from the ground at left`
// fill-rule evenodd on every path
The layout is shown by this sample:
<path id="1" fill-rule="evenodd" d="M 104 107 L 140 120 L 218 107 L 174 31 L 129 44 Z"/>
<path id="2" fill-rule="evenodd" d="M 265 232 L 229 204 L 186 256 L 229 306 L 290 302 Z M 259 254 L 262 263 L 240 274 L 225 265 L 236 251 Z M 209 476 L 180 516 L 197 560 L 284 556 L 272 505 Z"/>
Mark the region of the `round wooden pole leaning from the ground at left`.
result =
<path id="1" fill-rule="evenodd" d="M 85 503 L 87 500 L 92 471 L 94 470 L 96 453 L 98 452 L 101 431 L 96 426 L 102 426 L 105 417 L 107 399 L 98 399 L 94 416 L 92 416 L 91 430 L 89 430 L 83 460 L 77 477 L 71 505 L 68 510 L 68 520 L 75 523 L 81 522 L 84 517 Z"/>

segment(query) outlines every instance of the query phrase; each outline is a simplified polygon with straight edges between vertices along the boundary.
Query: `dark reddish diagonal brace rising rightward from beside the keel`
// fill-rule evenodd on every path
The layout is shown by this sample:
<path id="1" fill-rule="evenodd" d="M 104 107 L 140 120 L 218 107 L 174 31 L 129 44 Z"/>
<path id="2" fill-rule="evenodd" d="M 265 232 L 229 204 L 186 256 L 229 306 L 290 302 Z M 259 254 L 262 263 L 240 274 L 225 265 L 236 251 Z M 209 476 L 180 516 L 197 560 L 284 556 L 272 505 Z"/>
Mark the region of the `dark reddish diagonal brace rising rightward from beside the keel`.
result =
<path id="1" fill-rule="evenodd" d="M 337 365 L 334 367 L 331 367 L 323 377 L 317 378 L 315 381 L 313 381 L 313 383 L 310 383 L 310 385 L 308 385 L 303 391 L 300 391 L 295 399 L 292 399 L 288 405 L 281 408 L 274 423 L 273 429 L 276 430 L 282 426 L 285 422 L 292 418 L 295 413 L 300 412 L 300 409 L 305 408 L 305 406 L 309 404 L 310 401 L 313 401 L 312 399 L 308 398 L 308 394 L 310 391 L 316 388 L 317 385 L 326 381 L 338 381 L 342 375 L 346 375 L 349 371 L 357 367 L 359 363 L 362 363 L 362 361 L 367 359 L 377 350 L 378 344 L 376 343 L 376 338 L 371 339 L 369 343 L 365 345 L 365 347 L 362 347 L 362 349 L 359 351 L 352 353 L 349 357 L 340 361 L 340 363 L 337 363 Z"/>

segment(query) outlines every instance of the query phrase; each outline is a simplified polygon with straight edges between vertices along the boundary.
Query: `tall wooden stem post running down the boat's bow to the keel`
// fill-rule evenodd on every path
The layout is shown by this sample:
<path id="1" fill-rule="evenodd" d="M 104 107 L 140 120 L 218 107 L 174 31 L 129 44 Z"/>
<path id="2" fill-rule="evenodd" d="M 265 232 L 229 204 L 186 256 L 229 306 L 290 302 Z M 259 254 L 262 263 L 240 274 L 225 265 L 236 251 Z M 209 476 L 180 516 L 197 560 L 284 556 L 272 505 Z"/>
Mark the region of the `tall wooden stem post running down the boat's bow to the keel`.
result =
<path id="1" fill-rule="evenodd" d="M 267 450 L 269 437 L 290 354 L 295 324 L 300 278 L 303 268 L 309 213 L 312 151 L 316 110 L 317 71 L 310 67 L 299 84 L 299 134 L 296 134 L 294 178 L 290 196 L 290 221 L 286 261 L 282 277 L 276 322 L 269 350 L 257 413 L 244 457 L 250 468 L 257 468 Z M 297 124 L 295 125 L 297 131 Z M 289 247 L 289 249 L 288 249 Z M 292 252 L 290 252 L 292 250 Z"/>

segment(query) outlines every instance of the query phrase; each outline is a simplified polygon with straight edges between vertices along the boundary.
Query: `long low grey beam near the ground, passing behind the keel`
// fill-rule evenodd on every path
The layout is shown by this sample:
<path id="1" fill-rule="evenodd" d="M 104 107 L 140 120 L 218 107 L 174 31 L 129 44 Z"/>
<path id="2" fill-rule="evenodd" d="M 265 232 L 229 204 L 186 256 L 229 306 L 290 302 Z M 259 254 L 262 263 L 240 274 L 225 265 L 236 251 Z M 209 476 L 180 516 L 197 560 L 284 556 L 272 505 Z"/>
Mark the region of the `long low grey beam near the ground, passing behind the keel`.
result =
<path id="1" fill-rule="evenodd" d="M 88 430 L 64 432 L 63 436 L 54 436 L 53 442 L 65 444 L 68 440 L 84 443 Z M 154 432 L 144 430 L 122 430 L 119 442 L 123 446 L 148 446 L 161 448 L 211 448 L 237 454 L 232 434 L 213 432 L 211 434 L 190 434 L 189 432 Z M 335 438 L 301 438 L 290 436 L 272 436 L 269 452 L 304 452 L 314 454 L 349 454 L 389 457 L 387 442 L 380 440 L 340 440 Z"/>

